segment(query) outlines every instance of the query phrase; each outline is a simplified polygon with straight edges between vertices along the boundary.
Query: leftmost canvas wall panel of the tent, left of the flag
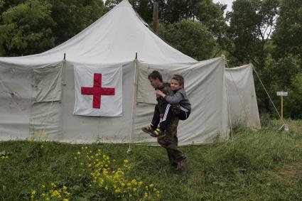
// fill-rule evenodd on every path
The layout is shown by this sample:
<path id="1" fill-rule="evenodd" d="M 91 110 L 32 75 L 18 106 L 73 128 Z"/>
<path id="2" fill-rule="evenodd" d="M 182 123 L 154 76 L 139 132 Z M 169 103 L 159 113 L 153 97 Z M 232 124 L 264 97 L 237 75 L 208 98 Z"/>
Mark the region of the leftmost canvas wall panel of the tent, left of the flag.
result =
<path id="1" fill-rule="evenodd" d="M 44 130 L 59 139 L 62 64 L 0 62 L 0 140 L 41 138 Z M 53 117 L 51 124 L 47 116 Z"/>

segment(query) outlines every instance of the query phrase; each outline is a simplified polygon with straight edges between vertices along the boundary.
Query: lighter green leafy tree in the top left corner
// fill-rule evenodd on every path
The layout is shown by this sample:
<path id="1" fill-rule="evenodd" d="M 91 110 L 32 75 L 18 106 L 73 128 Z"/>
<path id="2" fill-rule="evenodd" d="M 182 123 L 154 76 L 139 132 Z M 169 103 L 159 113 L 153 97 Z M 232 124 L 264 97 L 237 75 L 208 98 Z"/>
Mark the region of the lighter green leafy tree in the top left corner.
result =
<path id="1" fill-rule="evenodd" d="M 0 24 L 1 55 L 28 55 L 53 46 L 55 22 L 51 8 L 48 1 L 29 0 L 4 11 Z"/>

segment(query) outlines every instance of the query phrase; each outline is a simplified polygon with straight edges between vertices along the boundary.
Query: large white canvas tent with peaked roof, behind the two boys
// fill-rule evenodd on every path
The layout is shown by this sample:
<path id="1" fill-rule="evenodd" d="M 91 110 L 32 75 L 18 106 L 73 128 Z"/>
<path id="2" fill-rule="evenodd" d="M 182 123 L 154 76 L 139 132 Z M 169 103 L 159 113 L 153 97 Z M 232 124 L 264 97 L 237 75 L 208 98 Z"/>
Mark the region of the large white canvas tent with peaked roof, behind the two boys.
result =
<path id="1" fill-rule="evenodd" d="M 122 116 L 72 114 L 77 67 L 122 67 Z M 155 103 L 147 80 L 152 70 L 160 70 L 164 80 L 176 73 L 185 77 L 193 111 L 178 126 L 180 145 L 227 139 L 224 67 L 223 57 L 198 62 L 172 48 L 124 0 L 56 48 L 0 58 L 0 140 L 156 143 L 141 131 L 150 124 Z"/>

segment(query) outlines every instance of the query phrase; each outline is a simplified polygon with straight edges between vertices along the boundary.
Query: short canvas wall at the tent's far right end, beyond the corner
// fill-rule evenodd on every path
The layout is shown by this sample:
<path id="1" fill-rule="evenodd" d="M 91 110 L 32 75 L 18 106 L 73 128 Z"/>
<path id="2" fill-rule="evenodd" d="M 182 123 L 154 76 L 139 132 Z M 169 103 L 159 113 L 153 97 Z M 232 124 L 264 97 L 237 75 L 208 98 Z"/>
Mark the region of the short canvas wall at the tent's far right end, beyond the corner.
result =
<path id="1" fill-rule="evenodd" d="M 260 129 L 252 64 L 225 68 L 225 77 L 232 124 Z"/>

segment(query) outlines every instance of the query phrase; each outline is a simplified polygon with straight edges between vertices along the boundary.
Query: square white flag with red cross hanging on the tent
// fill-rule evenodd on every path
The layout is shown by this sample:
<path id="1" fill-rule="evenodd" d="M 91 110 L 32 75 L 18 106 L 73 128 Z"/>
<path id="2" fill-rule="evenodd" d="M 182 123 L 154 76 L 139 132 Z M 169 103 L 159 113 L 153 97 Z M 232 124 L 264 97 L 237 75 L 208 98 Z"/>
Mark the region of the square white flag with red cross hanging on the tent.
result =
<path id="1" fill-rule="evenodd" d="M 122 115 L 122 66 L 75 66 L 75 111 L 85 116 Z"/>

